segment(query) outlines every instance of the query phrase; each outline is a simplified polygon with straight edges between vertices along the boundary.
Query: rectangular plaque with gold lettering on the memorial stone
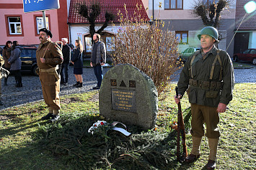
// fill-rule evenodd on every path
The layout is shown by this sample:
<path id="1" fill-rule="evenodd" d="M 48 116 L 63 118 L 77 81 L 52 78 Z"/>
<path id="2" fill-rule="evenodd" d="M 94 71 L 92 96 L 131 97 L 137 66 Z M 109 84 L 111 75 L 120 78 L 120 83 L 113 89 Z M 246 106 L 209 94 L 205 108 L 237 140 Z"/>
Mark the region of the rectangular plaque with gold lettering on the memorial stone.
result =
<path id="1" fill-rule="evenodd" d="M 112 89 L 112 109 L 136 113 L 135 90 Z"/>

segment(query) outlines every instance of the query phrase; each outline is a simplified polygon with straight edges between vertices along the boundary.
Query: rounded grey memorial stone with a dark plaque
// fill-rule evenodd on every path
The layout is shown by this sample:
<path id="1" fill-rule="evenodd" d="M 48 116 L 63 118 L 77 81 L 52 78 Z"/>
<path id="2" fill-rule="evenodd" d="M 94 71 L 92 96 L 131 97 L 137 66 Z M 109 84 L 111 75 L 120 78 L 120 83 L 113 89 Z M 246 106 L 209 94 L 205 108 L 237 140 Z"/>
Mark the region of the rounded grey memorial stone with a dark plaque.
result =
<path id="1" fill-rule="evenodd" d="M 133 65 L 112 67 L 102 80 L 100 114 L 112 121 L 154 128 L 158 107 L 154 82 Z"/>

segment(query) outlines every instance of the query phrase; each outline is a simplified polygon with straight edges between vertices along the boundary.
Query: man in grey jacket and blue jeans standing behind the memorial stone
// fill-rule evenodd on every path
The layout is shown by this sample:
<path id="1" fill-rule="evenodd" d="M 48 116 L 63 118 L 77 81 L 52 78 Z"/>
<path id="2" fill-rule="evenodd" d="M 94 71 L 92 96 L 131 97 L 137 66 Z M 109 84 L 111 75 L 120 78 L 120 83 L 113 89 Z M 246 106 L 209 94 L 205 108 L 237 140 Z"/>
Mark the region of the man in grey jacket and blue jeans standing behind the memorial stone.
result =
<path id="1" fill-rule="evenodd" d="M 94 43 L 92 44 L 91 67 L 94 68 L 94 74 L 97 77 L 97 86 L 94 90 L 100 89 L 102 84 L 103 72 L 102 66 L 106 63 L 106 47 L 104 42 L 100 41 L 100 34 L 93 35 Z"/>

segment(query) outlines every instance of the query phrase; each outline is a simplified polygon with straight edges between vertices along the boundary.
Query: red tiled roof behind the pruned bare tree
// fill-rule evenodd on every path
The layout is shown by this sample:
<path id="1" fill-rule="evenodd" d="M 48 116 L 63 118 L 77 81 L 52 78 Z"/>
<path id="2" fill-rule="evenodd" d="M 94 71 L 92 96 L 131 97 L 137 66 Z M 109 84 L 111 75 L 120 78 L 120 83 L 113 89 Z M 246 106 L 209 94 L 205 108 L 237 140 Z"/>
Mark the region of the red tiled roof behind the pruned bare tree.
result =
<path id="1" fill-rule="evenodd" d="M 128 11 L 128 16 L 133 16 L 134 12 L 137 11 L 138 6 L 142 6 L 142 10 L 140 10 L 141 18 L 149 20 L 149 16 L 146 14 L 144 9 L 144 4 L 141 0 L 97 0 L 101 6 L 100 16 L 95 20 L 96 23 L 105 22 L 105 11 L 112 12 L 115 15 L 115 19 L 113 22 L 118 22 L 119 17 L 117 16 L 118 11 L 125 15 L 124 4 L 126 5 L 126 9 Z M 88 24 L 88 20 L 81 16 L 79 11 L 79 4 L 85 3 L 87 6 L 91 6 L 94 4 L 92 0 L 71 0 L 70 8 L 69 8 L 69 19 L 68 22 L 71 24 Z"/>

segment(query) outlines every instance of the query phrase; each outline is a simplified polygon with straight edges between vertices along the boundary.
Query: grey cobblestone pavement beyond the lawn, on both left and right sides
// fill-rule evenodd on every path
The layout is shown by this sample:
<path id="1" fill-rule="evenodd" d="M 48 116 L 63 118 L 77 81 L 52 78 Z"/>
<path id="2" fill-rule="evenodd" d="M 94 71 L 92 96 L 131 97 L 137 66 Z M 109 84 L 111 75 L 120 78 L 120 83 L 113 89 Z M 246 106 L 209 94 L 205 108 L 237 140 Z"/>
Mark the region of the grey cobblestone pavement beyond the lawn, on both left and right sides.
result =
<path id="1" fill-rule="evenodd" d="M 103 68 L 103 72 L 106 73 L 110 68 Z M 92 90 L 97 83 L 97 79 L 94 75 L 94 70 L 92 68 L 84 68 L 83 77 L 83 87 L 74 88 L 73 84 L 76 82 L 73 67 L 69 67 L 69 84 L 61 85 L 60 95 L 69 95 L 74 93 L 84 93 Z M 177 72 L 179 73 L 179 72 Z M 235 69 L 234 77 L 236 83 L 242 82 L 256 82 L 256 66 L 252 65 L 250 69 Z M 177 75 L 174 83 L 177 82 L 179 76 Z M 41 88 L 40 80 L 37 76 L 23 73 L 22 74 L 22 84 L 23 88 L 14 87 L 14 76 L 10 76 L 8 79 L 8 86 L 4 86 L 4 79 L 2 80 L 1 89 L 1 100 L 4 105 L 0 106 L 0 110 L 9 108 L 15 105 L 22 105 L 25 103 L 34 102 L 37 100 L 43 100 L 43 93 Z M 255 84 L 256 85 L 256 84 Z"/>

